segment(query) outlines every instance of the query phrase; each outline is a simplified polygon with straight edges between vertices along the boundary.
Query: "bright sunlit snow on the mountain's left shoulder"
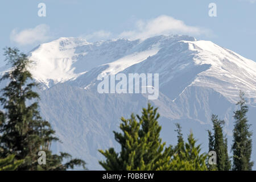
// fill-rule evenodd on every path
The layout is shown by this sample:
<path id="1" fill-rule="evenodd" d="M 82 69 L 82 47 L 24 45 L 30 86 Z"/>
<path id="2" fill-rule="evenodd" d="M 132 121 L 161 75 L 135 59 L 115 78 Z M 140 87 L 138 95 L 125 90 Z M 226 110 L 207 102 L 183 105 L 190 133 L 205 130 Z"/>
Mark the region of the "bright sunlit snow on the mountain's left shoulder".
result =
<path id="1" fill-rule="evenodd" d="M 49 43 L 41 44 L 30 53 L 34 61 L 30 71 L 35 80 L 50 86 L 50 81 L 55 84 L 76 78 L 81 73 L 75 73 L 73 64 L 77 61 L 77 46 L 88 45 L 86 40 L 77 38 L 59 38 Z M 86 52 L 85 52 L 86 54 Z M 86 68 L 84 68 L 84 72 Z"/>

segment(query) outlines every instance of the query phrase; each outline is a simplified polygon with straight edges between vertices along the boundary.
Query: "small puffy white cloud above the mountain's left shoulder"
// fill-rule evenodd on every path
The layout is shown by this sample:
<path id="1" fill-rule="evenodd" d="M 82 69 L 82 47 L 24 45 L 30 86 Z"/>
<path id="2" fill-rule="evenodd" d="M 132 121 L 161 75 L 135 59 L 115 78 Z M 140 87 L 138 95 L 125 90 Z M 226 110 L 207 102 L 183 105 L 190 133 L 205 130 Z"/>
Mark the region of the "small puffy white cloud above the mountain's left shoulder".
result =
<path id="1" fill-rule="evenodd" d="M 22 46 L 43 43 L 51 38 L 51 36 L 49 36 L 49 29 L 47 24 L 39 24 L 35 28 L 27 28 L 20 32 L 14 29 L 11 31 L 10 39 Z"/>

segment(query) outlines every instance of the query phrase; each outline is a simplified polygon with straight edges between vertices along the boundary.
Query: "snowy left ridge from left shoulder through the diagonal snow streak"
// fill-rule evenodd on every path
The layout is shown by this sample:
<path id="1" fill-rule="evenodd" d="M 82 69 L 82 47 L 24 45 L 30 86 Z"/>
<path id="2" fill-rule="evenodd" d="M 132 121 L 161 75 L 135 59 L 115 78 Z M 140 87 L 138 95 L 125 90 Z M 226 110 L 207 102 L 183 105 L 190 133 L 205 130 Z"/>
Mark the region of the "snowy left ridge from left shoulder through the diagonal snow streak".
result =
<path id="1" fill-rule="evenodd" d="M 34 61 L 30 71 L 36 80 L 49 88 L 58 82 L 74 80 L 99 65 L 108 64 L 105 72 L 117 73 L 154 55 L 159 46 L 181 39 L 193 38 L 159 36 L 142 43 L 127 39 L 88 43 L 80 38 L 59 38 L 30 52 L 30 59 Z"/>

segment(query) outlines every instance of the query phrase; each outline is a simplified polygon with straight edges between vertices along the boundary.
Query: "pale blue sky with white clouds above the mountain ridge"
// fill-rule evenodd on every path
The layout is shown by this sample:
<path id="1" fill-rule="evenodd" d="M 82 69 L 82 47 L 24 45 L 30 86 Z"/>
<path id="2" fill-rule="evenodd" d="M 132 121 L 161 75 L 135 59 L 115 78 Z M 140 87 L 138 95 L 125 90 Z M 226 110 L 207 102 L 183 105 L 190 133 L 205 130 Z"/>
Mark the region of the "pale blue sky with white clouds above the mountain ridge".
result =
<path id="1" fill-rule="evenodd" d="M 147 38 L 185 34 L 210 40 L 256 61 L 256 0 L 179 1 L 1 1 L 0 66 L 2 48 L 28 52 L 40 43 L 60 37 L 81 37 L 94 42 L 111 38 Z M 38 16 L 38 4 L 46 16 Z M 209 3 L 217 16 L 210 17 Z"/>

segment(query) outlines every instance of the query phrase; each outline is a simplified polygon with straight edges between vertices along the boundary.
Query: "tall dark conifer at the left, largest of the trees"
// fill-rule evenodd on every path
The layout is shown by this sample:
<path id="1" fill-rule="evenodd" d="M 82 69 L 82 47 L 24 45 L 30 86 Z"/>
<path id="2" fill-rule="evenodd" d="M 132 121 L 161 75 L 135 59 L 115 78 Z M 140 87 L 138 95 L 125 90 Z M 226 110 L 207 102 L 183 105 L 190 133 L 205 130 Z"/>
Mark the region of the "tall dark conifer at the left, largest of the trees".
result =
<path id="1" fill-rule="evenodd" d="M 77 164 L 84 167 L 84 161 L 79 159 L 62 164 L 64 158 L 70 156 L 66 153 L 52 154 L 51 143 L 58 138 L 53 136 L 55 131 L 49 122 L 40 117 L 39 95 L 32 90 L 37 84 L 27 70 L 31 61 L 16 48 L 7 48 L 5 56 L 12 69 L 1 78 L 9 84 L 2 89 L 0 98 L 5 110 L 0 112 L 0 158 L 14 154 L 15 160 L 24 159 L 18 170 L 65 170 Z M 32 104 L 28 105 L 28 101 Z M 38 164 L 39 151 L 46 152 L 46 165 Z"/>

